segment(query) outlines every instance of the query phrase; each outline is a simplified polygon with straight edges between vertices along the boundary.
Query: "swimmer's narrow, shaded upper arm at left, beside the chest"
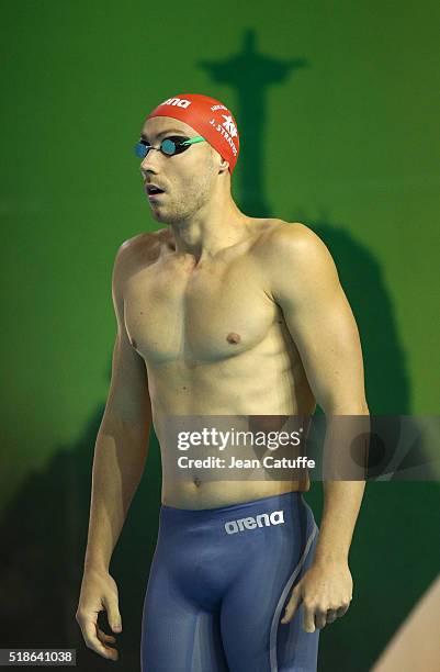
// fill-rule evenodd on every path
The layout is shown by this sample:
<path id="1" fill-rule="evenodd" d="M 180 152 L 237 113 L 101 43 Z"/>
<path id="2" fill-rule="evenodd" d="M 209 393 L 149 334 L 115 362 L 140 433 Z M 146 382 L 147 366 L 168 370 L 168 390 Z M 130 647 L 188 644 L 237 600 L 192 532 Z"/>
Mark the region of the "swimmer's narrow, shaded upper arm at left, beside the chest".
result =
<path id="1" fill-rule="evenodd" d="M 124 243 L 117 250 L 113 267 L 112 296 L 117 333 L 104 417 L 147 428 L 151 422 L 151 403 L 146 366 L 128 339 L 124 321 L 123 283 L 129 271 L 131 251 L 131 242 Z"/>

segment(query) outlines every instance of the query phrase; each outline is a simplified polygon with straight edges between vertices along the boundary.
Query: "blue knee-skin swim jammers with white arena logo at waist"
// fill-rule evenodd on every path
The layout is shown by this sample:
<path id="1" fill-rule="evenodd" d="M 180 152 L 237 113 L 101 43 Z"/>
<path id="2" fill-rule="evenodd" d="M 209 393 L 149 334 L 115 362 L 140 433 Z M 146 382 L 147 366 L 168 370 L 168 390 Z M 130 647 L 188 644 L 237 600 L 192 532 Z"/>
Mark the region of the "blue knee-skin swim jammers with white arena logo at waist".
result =
<path id="1" fill-rule="evenodd" d="M 219 508 L 162 505 L 144 603 L 143 672 L 315 672 L 303 607 L 280 624 L 318 538 L 301 492 Z"/>

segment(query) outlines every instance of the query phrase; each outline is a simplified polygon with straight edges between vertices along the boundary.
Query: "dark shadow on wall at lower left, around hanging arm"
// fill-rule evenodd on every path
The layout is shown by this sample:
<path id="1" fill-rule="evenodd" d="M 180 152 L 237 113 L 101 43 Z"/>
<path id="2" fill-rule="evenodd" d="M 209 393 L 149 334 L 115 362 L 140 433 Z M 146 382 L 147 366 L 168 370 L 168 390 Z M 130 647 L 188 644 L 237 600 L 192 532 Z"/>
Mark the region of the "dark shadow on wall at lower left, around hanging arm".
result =
<path id="1" fill-rule="evenodd" d="M 93 447 L 103 407 L 80 439 L 60 447 L 45 470 L 32 474 L 0 525 L 1 648 L 76 648 L 79 670 L 139 669 L 143 598 L 157 537 L 160 458 L 151 437 L 144 479 L 135 496 L 111 573 L 120 589 L 124 631 L 120 661 L 86 648 L 75 620 L 87 542 Z M 55 452 L 55 451 L 54 451 Z M 106 619 L 100 618 L 110 634 Z"/>

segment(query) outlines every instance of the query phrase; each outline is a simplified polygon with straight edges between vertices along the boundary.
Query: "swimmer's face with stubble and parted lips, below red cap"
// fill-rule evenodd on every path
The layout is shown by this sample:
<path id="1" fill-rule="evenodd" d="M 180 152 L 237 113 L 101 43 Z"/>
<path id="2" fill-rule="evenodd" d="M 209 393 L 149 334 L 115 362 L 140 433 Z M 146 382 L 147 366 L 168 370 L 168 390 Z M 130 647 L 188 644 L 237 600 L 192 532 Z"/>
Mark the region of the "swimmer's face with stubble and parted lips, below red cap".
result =
<path id="1" fill-rule="evenodd" d="M 148 119 L 142 137 L 153 147 L 159 147 L 167 137 L 183 139 L 198 136 L 191 126 L 170 116 Z M 140 172 L 145 190 L 148 184 L 163 189 L 165 193 L 148 197 L 153 215 L 167 224 L 177 223 L 195 214 L 208 202 L 216 176 L 217 153 L 205 141 L 190 145 L 185 152 L 167 156 L 150 149 L 142 160 Z M 218 156 L 218 155 L 217 155 Z"/>

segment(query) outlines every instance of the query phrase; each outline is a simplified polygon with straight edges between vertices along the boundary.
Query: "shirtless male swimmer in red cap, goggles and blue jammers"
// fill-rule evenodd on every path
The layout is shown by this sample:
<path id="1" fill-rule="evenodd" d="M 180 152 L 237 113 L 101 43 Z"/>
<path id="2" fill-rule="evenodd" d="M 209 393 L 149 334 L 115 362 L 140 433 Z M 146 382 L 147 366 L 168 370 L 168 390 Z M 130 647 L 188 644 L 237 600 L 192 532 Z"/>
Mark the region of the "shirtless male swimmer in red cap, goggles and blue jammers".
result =
<path id="1" fill-rule="evenodd" d="M 151 423 L 163 463 L 177 452 L 171 416 L 312 416 L 316 402 L 327 417 L 369 413 L 359 334 L 329 251 L 301 223 L 240 212 L 230 193 L 238 149 L 230 111 L 199 94 L 156 108 L 137 145 L 146 192 L 162 190 L 148 200 L 166 226 L 125 242 L 114 264 L 117 336 L 77 611 L 87 646 L 110 660 L 115 638 L 98 613 L 121 632 L 109 565 Z M 316 670 L 319 629 L 352 598 L 348 555 L 364 481 L 324 483 L 319 535 L 308 489 L 308 479 L 163 470 L 144 672 Z"/>

